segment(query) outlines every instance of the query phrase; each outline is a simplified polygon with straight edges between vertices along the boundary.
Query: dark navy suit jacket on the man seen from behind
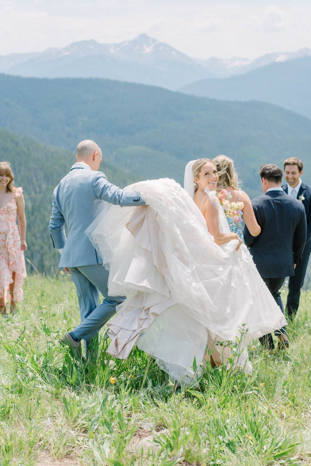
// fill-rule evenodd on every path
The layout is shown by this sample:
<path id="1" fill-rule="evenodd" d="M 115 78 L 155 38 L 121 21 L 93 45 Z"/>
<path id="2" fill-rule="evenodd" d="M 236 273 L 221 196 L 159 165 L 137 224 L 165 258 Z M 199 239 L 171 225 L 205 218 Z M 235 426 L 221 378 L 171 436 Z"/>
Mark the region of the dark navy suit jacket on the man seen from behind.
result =
<path id="1" fill-rule="evenodd" d="M 263 278 L 294 275 L 294 263 L 300 261 L 306 239 L 304 206 L 284 191 L 270 191 L 252 200 L 261 233 L 254 237 L 244 228 L 259 274 Z"/>

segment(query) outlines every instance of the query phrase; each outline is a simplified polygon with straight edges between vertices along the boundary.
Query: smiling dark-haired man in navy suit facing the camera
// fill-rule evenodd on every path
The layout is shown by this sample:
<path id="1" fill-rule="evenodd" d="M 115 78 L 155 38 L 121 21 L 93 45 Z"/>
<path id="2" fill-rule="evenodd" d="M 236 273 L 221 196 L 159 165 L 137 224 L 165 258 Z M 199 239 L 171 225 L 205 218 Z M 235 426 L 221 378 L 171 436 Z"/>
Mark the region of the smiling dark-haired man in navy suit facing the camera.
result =
<path id="1" fill-rule="evenodd" d="M 293 319 L 299 306 L 300 289 L 304 284 L 304 276 L 307 270 L 309 257 L 311 253 L 311 187 L 301 181 L 303 174 L 303 163 L 299 158 L 290 157 L 284 161 L 284 175 L 287 181 L 283 185 L 283 191 L 290 197 L 298 199 L 303 203 L 307 219 L 307 238 L 305 241 L 304 252 L 301 262 L 295 268 L 295 275 L 290 277 L 288 283 L 288 296 L 286 303 L 286 314 Z"/>

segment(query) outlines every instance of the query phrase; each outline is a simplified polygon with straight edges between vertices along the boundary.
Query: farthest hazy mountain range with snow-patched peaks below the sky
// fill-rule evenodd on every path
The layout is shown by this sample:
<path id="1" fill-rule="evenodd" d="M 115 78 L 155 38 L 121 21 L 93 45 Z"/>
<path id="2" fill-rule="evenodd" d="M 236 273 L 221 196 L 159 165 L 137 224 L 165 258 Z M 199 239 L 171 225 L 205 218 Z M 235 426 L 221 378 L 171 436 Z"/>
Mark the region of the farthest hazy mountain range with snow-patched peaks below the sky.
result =
<path id="1" fill-rule="evenodd" d="M 188 57 L 164 42 L 140 34 L 119 44 L 94 40 L 41 53 L 0 56 L 0 73 L 26 77 L 98 77 L 176 90 L 204 78 L 242 74 L 272 62 L 310 56 L 311 49 L 273 53 L 255 60 L 246 58 L 199 60 Z"/>

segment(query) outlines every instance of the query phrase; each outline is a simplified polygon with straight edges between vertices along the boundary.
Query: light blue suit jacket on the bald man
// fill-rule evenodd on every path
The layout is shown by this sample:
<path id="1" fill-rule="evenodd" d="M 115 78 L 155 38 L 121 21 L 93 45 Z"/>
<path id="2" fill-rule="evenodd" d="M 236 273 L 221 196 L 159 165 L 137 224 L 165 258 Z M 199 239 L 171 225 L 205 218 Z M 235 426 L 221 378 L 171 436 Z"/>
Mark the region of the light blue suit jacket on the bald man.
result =
<path id="1" fill-rule="evenodd" d="M 104 208 L 103 201 L 121 207 L 145 206 L 145 201 L 136 192 L 124 191 L 112 185 L 102 171 L 92 171 L 83 163 L 74 164 L 56 186 L 49 230 L 53 246 L 62 249 L 59 267 L 103 263 L 84 233 Z"/>

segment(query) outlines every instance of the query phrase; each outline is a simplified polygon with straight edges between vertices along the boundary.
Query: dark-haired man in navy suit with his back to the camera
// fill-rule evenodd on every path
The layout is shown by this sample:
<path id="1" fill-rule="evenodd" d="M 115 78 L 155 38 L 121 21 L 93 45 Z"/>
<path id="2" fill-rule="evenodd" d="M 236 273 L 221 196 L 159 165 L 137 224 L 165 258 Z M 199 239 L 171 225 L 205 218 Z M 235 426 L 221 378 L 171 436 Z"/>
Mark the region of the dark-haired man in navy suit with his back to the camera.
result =
<path id="1" fill-rule="evenodd" d="M 252 205 L 261 233 L 252 236 L 245 226 L 244 240 L 259 274 L 284 312 L 279 290 L 285 277 L 295 274 L 304 250 L 307 229 L 304 206 L 283 191 L 283 172 L 277 165 L 263 165 L 259 174 L 264 194 L 253 199 Z M 279 346 L 288 347 L 286 327 L 277 329 L 275 335 L 280 340 Z M 260 342 L 274 349 L 271 334 L 260 338 Z"/>

